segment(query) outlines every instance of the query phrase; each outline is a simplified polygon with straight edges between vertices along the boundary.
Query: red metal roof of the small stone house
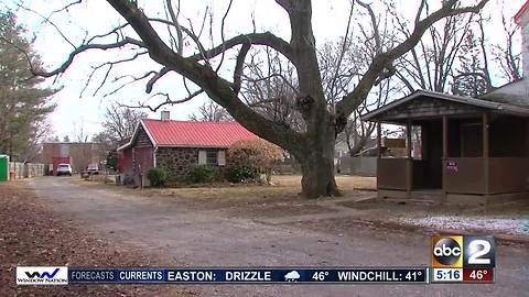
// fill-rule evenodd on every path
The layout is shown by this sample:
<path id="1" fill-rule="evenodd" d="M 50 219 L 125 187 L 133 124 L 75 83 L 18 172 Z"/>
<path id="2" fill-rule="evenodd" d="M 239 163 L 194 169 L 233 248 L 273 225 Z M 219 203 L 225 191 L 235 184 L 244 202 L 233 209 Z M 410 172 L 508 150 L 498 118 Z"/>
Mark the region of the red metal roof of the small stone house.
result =
<path id="1" fill-rule="evenodd" d="M 238 140 L 257 138 L 236 122 L 193 122 L 142 119 L 159 146 L 228 147 Z"/>

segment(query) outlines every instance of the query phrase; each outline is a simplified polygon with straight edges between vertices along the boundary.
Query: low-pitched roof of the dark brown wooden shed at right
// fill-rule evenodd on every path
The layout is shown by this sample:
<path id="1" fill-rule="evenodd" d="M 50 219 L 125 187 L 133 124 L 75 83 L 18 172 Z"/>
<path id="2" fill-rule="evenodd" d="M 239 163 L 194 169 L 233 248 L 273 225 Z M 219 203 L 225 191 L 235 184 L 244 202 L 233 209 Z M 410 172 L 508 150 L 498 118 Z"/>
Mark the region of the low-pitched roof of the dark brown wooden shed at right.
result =
<path id="1" fill-rule="evenodd" d="M 490 100 L 484 100 L 484 99 L 454 96 L 454 95 L 447 95 L 447 94 L 429 91 L 429 90 L 417 90 L 407 97 L 403 97 L 377 110 L 374 110 L 371 112 L 364 114 L 361 117 L 361 120 L 363 121 L 379 120 L 379 118 L 382 118 L 386 113 L 388 113 L 393 109 L 403 107 L 404 105 L 408 105 L 411 101 L 421 100 L 425 98 L 438 100 L 438 101 L 455 103 L 460 107 L 465 107 L 465 108 L 476 108 L 478 110 L 492 110 L 497 113 L 529 117 L 529 107 L 523 107 L 521 105 L 507 103 L 506 100 L 503 100 L 500 102 L 499 100 L 498 101 L 494 100 L 494 98 L 490 98 Z"/>

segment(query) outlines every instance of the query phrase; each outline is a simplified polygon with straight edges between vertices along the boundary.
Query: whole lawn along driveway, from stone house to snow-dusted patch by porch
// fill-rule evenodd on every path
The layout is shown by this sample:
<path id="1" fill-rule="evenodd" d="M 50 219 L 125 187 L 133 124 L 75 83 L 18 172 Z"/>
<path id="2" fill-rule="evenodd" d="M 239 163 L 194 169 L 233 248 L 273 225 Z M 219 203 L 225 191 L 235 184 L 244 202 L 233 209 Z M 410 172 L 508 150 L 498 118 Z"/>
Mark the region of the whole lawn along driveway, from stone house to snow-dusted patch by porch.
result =
<path id="1" fill-rule="evenodd" d="M 301 176 L 273 176 L 272 185 L 253 184 L 203 184 L 180 188 L 145 188 L 143 190 L 127 187 L 111 187 L 116 191 L 153 199 L 164 204 L 185 204 L 196 211 L 220 211 L 230 217 L 276 220 L 292 222 L 311 221 L 314 228 L 338 229 L 344 232 L 359 221 L 369 224 L 391 223 L 396 226 L 423 226 L 424 229 L 468 229 L 467 220 L 479 217 L 482 228 L 495 230 L 489 224 L 501 227 L 498 232 L 526 234 L 529 232 L 527 215 L 529 205 L 499 205 L 493 207 L 469 207 L 430 205 L 413 202 L 387 202 L 371 199 L 377 196 L 376 178 L 360 176 L 336 176 L 344 197 L 304 199 L 301 195 Z M 96 183 L 84 183 L 97 186 Z M 101 186 L 101 185 L 99 185 Z M 278 222 L 279 222 L 278 221 Z M 462 221 L 462 223 L 460 223 Z M 485 223 L 488 222 L 488 223 Z M 501 224 L 503 223 L 503 224 Z M 307 224 L 307 226 L 311 226 Z M 499 226 L 501 224 L 501 226 Z M 331 228 L 332 227 L 332 228 Z M 490 229 L 490 230 L 489 230 Z M 512 231 L 512 230 L 514 231 Z M 516 229 L 516 230 L 515 230 Z M 516 231 L 516 232 L 515 232 Z M 492 232 L 492 231 L 490 231 Z"/>

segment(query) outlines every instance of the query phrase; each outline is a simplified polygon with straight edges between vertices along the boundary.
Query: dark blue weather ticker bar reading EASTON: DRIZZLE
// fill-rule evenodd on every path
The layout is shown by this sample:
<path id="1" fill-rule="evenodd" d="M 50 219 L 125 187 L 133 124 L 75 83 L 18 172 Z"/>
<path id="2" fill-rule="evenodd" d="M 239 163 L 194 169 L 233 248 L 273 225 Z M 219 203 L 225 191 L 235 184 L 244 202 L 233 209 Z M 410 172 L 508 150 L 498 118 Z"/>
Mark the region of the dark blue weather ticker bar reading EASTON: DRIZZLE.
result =
<path id="1" fill-rule="evenodd" d="M 407 268 L 76 268 L 68 283 L 429 284 L 429 267 Z"/>

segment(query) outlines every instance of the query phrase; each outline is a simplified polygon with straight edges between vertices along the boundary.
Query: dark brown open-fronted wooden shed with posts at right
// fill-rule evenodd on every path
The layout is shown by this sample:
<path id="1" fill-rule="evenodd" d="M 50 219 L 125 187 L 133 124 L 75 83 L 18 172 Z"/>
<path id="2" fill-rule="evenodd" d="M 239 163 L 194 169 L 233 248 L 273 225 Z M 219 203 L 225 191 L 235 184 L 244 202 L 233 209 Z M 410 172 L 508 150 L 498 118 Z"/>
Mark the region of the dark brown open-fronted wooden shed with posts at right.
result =
<path id="1" fill-rule="evenodd" d="M 381 198 L 489 202 L 529 197 L 529 106 L 419 90 L 363 120 L 406 127 L 406 157 L 377 162 Z"/>

